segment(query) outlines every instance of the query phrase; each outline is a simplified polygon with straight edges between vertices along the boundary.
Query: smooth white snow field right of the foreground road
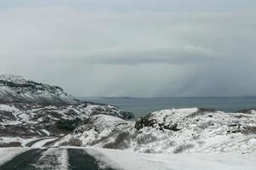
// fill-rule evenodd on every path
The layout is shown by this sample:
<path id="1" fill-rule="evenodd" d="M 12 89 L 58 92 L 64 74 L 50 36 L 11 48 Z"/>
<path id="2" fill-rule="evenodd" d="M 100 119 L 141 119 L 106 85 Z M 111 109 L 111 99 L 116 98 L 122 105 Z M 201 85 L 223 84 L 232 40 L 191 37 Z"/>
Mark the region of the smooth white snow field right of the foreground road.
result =
<path id="1" fill-rule="evenodd" d="M 98 161 L 123 170 L 255 170 L 256 152 L 143 154 L 128 150 L 87 149 Z"/>

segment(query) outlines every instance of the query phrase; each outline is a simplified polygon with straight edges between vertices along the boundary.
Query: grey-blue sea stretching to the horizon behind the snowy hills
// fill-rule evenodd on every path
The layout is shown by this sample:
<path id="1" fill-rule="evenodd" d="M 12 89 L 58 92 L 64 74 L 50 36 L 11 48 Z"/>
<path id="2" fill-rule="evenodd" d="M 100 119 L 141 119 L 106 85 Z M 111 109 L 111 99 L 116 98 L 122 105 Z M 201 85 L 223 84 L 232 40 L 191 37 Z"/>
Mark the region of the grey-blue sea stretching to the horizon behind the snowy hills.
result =
<path id="1" fill-rule="evenodd" d="M 207 108 L 218 111 L 235 112 L 243 109 L 256 109 L 256 97 L 241 98 L 80 98 L 86 101 L 118 106 L 132 112 L 136 118 L 152 111 L 172 108 Z"/>

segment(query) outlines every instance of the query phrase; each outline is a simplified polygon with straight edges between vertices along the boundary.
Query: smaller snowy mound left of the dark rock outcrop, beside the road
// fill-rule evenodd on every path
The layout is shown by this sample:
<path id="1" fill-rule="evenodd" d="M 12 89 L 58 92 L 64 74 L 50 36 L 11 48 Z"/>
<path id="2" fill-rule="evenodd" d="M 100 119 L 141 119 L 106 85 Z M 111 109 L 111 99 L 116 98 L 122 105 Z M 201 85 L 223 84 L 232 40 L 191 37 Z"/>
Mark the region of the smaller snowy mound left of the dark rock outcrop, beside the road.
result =
<path id="1" fill-rule="evenodd" d="M 73 145 L 73 141 L 76 140 L 80 141 L 81 146 L 94 145 L 99 148 L 125 149 L 127 147 L 125 146 L 125 138 L 130 136 L 133 127 L 134 122 L 125 121 L 116 116 L 90 116 L 73 133 L 67 135 L 55 145 Z M 124 146 L 115 144 L 118 143 L 115 142 L 116 140 L 119 140 Z"/>

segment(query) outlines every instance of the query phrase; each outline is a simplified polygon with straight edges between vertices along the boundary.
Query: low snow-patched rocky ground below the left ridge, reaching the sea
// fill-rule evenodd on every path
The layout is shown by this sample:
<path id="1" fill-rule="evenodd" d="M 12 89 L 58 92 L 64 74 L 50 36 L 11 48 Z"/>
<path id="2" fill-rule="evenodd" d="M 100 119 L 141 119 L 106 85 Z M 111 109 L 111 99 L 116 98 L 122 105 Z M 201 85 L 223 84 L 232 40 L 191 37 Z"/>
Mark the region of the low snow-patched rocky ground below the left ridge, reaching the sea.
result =
<path id="1" fill-rule="evenodd" d="M 0 134 L 3 136 L 47 136 L 70 133 L 79 122 L 97 114 L 129 119 L 132 114 L 112 105 L 0 105 Z"/>

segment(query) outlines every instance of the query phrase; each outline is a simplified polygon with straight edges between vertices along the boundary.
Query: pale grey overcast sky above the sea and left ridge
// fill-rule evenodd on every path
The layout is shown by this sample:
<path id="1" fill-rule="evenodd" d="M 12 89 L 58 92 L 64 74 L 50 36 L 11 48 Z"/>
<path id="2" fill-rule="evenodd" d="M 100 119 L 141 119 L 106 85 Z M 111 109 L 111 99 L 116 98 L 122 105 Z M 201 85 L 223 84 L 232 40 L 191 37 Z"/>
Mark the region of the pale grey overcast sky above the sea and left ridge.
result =
<path id="1" fill-rule="evenodd" d="M 255 0 L 0 0 L 0 72 L 77 96 L 256 94 Z"/>

